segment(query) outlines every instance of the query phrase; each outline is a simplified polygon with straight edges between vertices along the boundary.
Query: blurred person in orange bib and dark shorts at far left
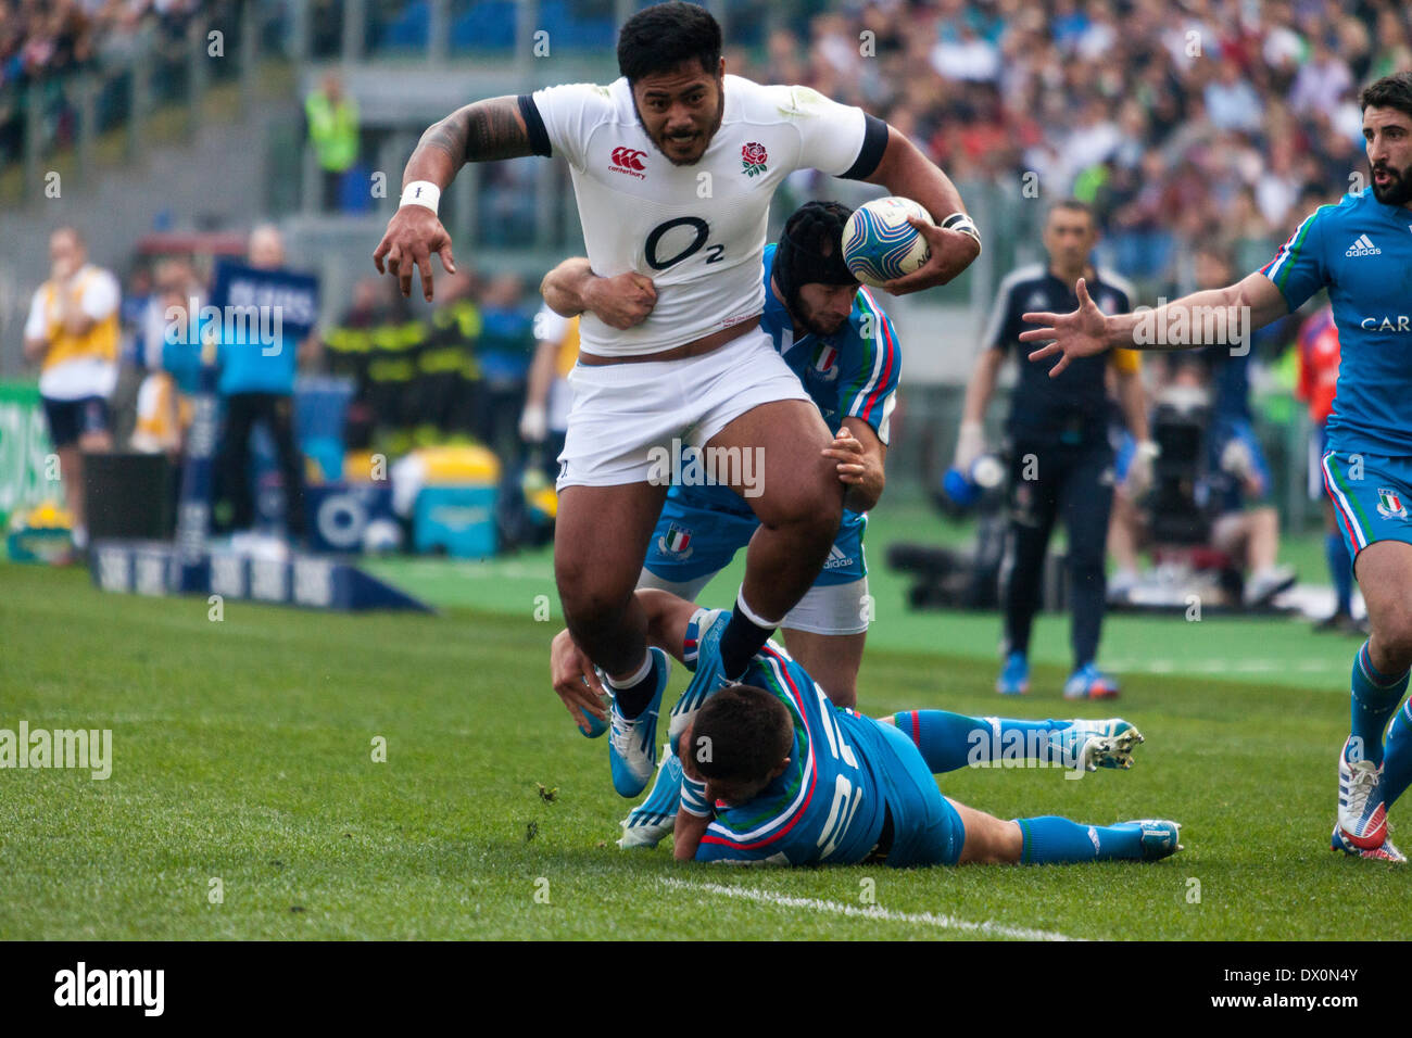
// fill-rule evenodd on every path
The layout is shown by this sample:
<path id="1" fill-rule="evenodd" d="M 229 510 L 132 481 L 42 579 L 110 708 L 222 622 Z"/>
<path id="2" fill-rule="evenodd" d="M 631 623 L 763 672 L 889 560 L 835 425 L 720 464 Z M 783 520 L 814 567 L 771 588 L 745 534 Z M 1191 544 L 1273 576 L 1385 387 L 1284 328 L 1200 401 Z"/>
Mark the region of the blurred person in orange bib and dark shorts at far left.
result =
<path id="1" fill-rule="evenodd" d="M 78 551 L 88 547 L 83 453 L 113 449 L 107 401 L 117 383 L 120 297 L 117 278 L 88 261 L 78 230 L 59 227 L 49 236 L 49 280 L 30 304 L 24 356 L 40 364 L 40 397 Z"/>

